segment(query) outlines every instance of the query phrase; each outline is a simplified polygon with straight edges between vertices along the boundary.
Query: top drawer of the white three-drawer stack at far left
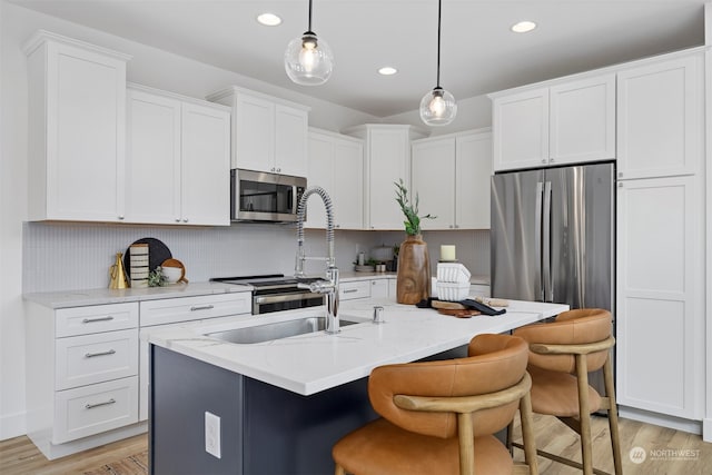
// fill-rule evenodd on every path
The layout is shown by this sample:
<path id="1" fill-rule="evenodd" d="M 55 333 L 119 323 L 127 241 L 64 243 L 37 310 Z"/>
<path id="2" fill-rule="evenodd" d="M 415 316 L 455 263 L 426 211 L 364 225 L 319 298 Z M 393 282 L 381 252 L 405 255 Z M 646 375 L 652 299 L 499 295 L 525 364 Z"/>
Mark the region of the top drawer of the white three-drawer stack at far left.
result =
<path id="1" fill-rule="evenodd" d="M 57 337 L 137 328 L 138 303 L 60 308 L 55 318 Z"/>

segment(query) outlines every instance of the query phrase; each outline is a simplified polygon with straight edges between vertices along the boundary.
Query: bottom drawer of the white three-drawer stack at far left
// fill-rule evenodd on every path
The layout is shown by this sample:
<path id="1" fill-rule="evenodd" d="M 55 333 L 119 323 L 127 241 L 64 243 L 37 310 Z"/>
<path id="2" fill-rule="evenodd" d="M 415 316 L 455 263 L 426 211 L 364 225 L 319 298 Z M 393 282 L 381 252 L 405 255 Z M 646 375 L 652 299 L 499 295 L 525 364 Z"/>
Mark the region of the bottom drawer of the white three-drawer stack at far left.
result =
<path id="1" fill-rule="evenodd" d="M 138 376 L 55 394 L 52 444 L 138 422 Z"/>

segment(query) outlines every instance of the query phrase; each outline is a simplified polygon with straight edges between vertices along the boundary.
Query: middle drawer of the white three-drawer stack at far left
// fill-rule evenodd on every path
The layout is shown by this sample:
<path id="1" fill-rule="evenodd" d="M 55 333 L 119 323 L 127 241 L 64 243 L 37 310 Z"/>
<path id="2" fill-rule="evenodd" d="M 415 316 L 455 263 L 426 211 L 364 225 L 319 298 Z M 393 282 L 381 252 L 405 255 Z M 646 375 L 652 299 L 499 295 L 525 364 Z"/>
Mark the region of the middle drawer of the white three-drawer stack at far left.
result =
<path id="1" fill-rule="evenodd" d="M 138 374 L 138 328 L 58 338 L 56 389 Z"/>

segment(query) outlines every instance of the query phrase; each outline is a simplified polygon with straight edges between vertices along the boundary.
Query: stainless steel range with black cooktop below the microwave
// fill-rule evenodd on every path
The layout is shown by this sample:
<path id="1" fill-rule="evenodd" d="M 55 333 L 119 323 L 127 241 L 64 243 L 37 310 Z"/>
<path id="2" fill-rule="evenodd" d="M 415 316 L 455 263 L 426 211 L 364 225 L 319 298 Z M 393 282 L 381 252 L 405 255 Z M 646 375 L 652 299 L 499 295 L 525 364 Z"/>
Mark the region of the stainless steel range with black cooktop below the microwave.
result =
<path id="1" fill-rule="evenodd" d="M 253 315 L 270 311 L 324 305 L 324 295 L 297 287 L 298 283 L 310 284 L 319 278 L 285 277 L 283 274 L 244 277 L 214 277 L 211 281 L 236 285 L 251 285 Z"/>

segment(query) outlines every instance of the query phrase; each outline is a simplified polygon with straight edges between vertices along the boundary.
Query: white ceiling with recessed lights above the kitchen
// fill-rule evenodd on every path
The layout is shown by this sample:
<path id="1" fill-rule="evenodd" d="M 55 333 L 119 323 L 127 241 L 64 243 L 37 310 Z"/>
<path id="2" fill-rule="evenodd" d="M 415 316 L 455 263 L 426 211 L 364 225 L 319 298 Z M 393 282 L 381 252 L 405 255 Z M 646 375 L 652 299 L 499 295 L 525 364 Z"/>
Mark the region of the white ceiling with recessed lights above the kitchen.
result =
<path id="1" fill-rule="evenodd" d="M 441 83 L 481 96 L 704 42 L 705 0 L 443 0 Z M 140 43 L 376 117 L 417 109 L 436 85 L 436 0 L 314 0 L 313 30 L 334 51 L 323 86 L 289 81 L 283 57 L 307 30 L 307 0 L 14 0 Z M 278 27 L 255 21 L 270 11 Z M 538 28 L 516 34 L 510 27 Z M 398 73 L 379 76 L 382 66 Z"/>

